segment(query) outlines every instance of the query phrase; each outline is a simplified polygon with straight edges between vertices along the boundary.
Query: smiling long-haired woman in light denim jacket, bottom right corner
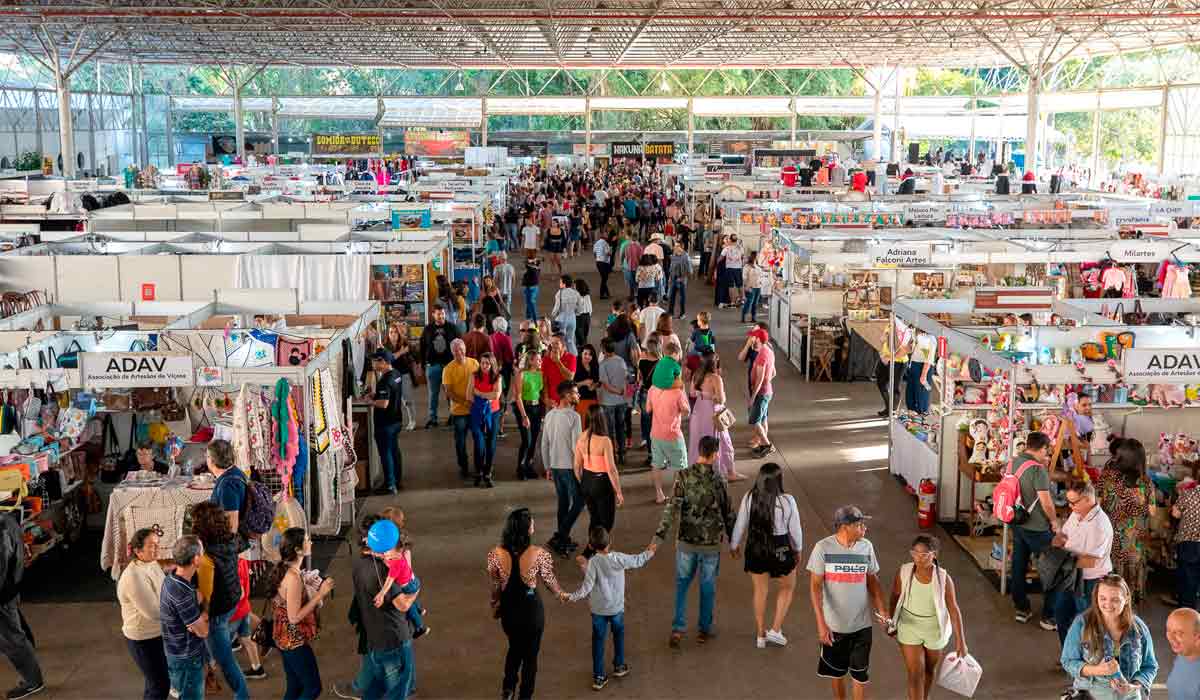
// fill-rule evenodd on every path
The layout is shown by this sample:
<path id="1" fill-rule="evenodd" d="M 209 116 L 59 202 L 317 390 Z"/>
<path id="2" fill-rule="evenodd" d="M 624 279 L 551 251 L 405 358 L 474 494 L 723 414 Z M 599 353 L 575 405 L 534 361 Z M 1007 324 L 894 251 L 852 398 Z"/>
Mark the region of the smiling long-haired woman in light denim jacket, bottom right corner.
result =
<path id="1" fill-rule="evenodd" d="M 1072 688 L 1093 700 L 1150 696 L 1158 675 L 1154 639 L 1133 611 L 1133 594 L 1109 574 L 1092 590 L 1092 606 L 1075 617 L 1062 644 L 1062 668 Z"/>

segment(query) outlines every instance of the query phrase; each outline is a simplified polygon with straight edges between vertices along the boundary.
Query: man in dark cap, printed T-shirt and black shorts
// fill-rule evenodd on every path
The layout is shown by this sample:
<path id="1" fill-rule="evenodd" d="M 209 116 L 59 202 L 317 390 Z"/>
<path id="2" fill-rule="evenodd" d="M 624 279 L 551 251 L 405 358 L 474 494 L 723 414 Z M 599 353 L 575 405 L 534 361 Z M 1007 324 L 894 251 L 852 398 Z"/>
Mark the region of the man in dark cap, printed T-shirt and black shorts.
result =
<path id="1" fill-rule="evenodd" d="M 857 505 L 842 505 L 833 515 L 834 534 L 812 548 L 809 557 L 809 597 L 817 618 L 821 660 L 817 675 L 833 681 L 833 696 L 846 698 L 846 674 L 853 680 L 854 700 L 862 700 L 870 681 L 871 608 L 887 621 L 880 562 L 866 539 L 866 521 Z"/>

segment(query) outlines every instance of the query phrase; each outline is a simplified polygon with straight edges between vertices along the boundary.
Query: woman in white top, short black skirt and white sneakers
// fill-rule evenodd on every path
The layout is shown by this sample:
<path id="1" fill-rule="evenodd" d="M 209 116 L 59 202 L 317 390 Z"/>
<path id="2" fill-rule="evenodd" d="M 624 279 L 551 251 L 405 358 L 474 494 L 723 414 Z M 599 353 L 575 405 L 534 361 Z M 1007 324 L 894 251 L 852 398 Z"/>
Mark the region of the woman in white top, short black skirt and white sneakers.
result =
<path id="1" fill-rule="evenodd" d="M 734 558 L 742 554 L 743 540 L 746 545 L 745 570 L 754 582 L 755 646 L 766 648 L 768 641 L 785 646 L 784 618 L 792 605 L 796 561 L 804 539 L 796 498 L 784 492 L 784 469 L 775 462 L 767 462 L 758 469 L 754 487 L 742 498 L 730 540 L 730 554 Z M 775 592 L 775 623 L 766 628 L 770 579 L 779 579 L 779 590 Z"/>

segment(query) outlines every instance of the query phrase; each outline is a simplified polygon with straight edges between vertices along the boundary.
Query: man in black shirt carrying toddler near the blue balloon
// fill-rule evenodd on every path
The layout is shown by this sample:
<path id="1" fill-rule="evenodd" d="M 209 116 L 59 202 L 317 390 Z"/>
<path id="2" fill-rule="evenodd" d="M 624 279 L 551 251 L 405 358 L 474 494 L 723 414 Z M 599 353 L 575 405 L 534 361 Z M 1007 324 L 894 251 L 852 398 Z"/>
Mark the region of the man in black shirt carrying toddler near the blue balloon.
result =
<path id="1" fill-rule="evenodd" d="M 361 617 L 367 653 L 362 657 L 359 682 L 364 698 L 404 700 L 413 686 L 413 630 L 404 612 L 416 600 L 392 584 L 376 608 L 374 597 L 388 579 L 388 566 L 364 551 L 354 562 L 354 600 Z"/>

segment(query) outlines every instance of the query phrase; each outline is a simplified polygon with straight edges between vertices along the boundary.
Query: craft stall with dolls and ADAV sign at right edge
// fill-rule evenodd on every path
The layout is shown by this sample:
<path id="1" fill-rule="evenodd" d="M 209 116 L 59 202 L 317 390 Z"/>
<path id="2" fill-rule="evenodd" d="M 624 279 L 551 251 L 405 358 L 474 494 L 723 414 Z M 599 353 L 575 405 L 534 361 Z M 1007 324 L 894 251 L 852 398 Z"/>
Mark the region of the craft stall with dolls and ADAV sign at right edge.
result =
<path id="1" fill-rule="evenodd" d="M 1051 439 L 1051 491 L 1062 516 L 1063 484 L 1099 479 L 1110 437 L 1139 439 L 1150 467 L 1144 493 L 1159 505 L 1154 517 L 1145 514 L 1144 563 L 1174 568 L 1166 513 L 1180 489 L 1194 487 L 1200 467 L 1190 437 L 1200 419 L 1200 304 L 1146 300 L 1117 321 L 1098 313 L 1104 306 L 1050 295 L 1012 300 L 1006 312 L 1031 313 L 1032 325 L 991 324 L 985 313 L 994 311 L 966 299 L 894 306 L 895 342 L 907 333 L 914 347 L 932 348 L 936 375 L 926 406 L 906 401 L 893 412 L 892 472 L 936 501 L 929 507 L 937 519 L 954 523 L 955 540 L 996 573 L 1002 592 L 1010 538 L 991 516 L 990 496 L 1032 430 Z M 910 390 L 906 384 L 906 399 Z M 1133 574 L 1139 591 L 1140 568 Z"/>

